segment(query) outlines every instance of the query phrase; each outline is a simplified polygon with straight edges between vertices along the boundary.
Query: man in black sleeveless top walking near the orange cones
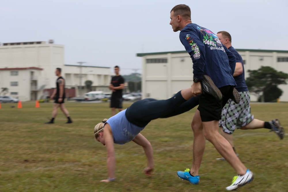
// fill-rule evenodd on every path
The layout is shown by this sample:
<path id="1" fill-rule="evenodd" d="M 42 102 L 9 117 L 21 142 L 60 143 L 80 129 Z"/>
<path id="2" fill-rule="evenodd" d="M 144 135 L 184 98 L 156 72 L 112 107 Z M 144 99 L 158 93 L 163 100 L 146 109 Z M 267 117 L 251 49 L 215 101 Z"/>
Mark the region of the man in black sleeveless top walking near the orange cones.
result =
<path id="1" fill-rule="evenodd" d="M 58 107 L 60 107 L 61 111 L 67 117 L 68 121 L 66 123 L 72 123 L 69 112 L 67 111 L 64 105 L 65 79 L 61 76 L 61 68 L 56 68 L 55 74 L 58 77 L 56 81 L 56 88 L 54 89 L 53 94 L 50 96 L 50 98 L 54 98 L 55 96 L 55 101 L 54 101 L 53 111 L 52 111 L 52 118 L 50 121 L 46 122 L 46 124 L 54 123 L 54 119 L 57 115 Z"/>

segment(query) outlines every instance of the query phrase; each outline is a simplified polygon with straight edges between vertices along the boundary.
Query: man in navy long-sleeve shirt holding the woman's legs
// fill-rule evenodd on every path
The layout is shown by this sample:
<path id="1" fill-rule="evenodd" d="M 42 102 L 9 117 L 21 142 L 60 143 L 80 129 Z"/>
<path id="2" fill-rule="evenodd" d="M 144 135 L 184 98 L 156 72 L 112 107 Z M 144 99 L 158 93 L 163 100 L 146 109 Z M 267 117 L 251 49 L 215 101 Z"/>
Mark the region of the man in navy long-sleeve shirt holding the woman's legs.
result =
<path id="1" fill-rule="evenodd" d="M 230 64 L 232 60 L 230 62 L 228 59 L 228 54 L 231 52 L 223 47 L 218 37 L 210 30 L 192 23 L 189 6 L 180 4 L 173 7 L 170 19 L 173 31 L 180 31 L 180 41 L 192 58 L 194 75 L 192 94 L 200 95 L 199 106 L 191 123 L 194 134 L 192 168 L 187 172 L 178 171 L 177 175 L 192 184 L 199 183 L 199 168 L 207 139 L 238 174 L 226 189 L 228 191 L 238 189 L 253 180 L 253 173 L 242 164 L 229 142 L 218 132 L 222 108 L 232 97 L 233 88 L 236 86 L 232 76 L 235 69 L 235 56 L 233 56 L 233 67 Z M 211 77 L 223 94 L 222 100 L 218 101 L 209 94 L 202 94 L 200 81 L 203 75 Z"/>

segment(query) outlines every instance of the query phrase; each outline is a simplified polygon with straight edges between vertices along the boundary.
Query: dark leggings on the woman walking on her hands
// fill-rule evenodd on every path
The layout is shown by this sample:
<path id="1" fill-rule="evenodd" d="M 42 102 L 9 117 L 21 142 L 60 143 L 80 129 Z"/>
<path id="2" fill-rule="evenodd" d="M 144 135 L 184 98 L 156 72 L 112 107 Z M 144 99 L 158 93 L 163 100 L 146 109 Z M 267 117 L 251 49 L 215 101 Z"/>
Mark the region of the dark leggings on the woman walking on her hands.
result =
<path id="1" fill-rule="evenodd" d="M 181 91 L 166 100 L 143 99 L 134 102 L 126 109 L 128 121 L 139 127 L 145 127 L 151 120 L 167 118 L 189 111 L 199 104 L 199 97 L 185 100 Z"/>

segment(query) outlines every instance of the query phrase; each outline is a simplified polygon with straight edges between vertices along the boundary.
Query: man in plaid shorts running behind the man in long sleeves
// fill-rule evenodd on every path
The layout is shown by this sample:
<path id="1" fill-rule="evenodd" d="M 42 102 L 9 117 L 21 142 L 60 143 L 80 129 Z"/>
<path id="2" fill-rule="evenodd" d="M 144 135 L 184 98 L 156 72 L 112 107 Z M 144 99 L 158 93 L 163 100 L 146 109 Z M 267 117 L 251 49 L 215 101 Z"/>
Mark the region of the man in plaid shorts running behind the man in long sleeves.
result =
<path id="1" fill-rule="evenodd" d="M 280 125 L 278 119 L 273 119 L 269 122 L 261 121 L 259 119 L 254 119 L 254 115 L 251 114 L 250 108 L 250 93 L 248 91 L 243 60 L 240 54 L 231 45 L 231 35 L 226 31 L 219 31 L 217 37 L 223 45 L 225 45 L 229 51 L 231 51 L 236 56 L 236 67 L 233 77 L 237 83 L 235 87 L 240 94 L 240 103 L 236 104 L 231 99 L 228 100 L 224 108 L 222 109 L 221 120 L 219 121 L 219 127 L 221 135 L 228 140 L 228 142 L 233 147 L 233 132 L 235 129 L 259 129 L 266 128 L 274 131 L 280 139 L 283 139 L 285 132 L 283 127 Z M 236 153 L 237 154 L 237 153 Z M 238 154 L 237 154 L 238 156 Z M 225 161 L 224 157 L 217 158 L 217 160 Z"/>

